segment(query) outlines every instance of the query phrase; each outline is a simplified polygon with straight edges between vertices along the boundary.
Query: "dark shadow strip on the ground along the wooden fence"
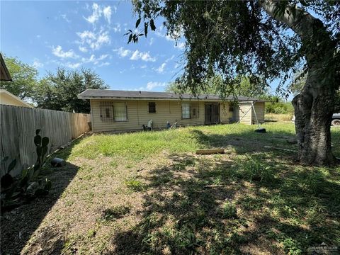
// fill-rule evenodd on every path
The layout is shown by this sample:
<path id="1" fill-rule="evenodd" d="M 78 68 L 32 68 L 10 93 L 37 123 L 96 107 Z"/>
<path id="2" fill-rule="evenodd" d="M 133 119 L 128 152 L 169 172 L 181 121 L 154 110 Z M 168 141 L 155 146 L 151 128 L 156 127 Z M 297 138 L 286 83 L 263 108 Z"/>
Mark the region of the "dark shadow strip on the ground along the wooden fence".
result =
<path id="1" fill-rule="evenodd" d="M 67 159 L 72 148 L 79 141 L 75 141 L 71 146 L 62 149 L 53 154 L 50 159 L 47 159 L 47 164 L 40 174 L 42 179 L 47 178 L 52 181 L 52 189 L 47 196 L 35 198 L 26 205 L 1 213 L 1 254 L 25 254 L 23 247 L 26 246 L 35 229 L 38 229 L 42 220 L 44 220 L 52 206 L 55 205 L 79 169 L 78 166 L 68 162 L 65 166 L 52 168 L 50 160 L 53 157 Z M 45 232 L 42 232 L 39 236 L 39 240 L 35 240 L 39 244 L 39 247 L 36 247 L 37 253 L 43 253 L 45 247 L 48 246 L 48 251 L 60 254 L 64 246 L 64 240 L 57 239 L 52 243 L 46 243 L 55 236 L 57 236 L 57 233 L 55 233 L 54 229 L 46 228 Z"/>

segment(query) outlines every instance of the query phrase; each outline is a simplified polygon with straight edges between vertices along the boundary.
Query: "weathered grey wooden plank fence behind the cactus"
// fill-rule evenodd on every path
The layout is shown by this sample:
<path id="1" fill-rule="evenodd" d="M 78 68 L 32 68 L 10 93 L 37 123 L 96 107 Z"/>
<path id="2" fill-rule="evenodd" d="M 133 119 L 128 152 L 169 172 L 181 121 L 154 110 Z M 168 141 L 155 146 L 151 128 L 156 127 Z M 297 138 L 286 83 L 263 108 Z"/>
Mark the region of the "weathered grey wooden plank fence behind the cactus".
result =
<path id="1" fill-rule="evenodd" d="M 35 130 L 40 129 L 42 137 L 50 138 L 47 154 L 90 130 L 89 114 L 5 105 L 0 105 L 0 114 L 0 156 L 9 157 L 1 164 L 1 176 L 13 159 L 17 159 L 16 168 L 11 171 L 13 176 L 21 173 L 24 164 L 35 163 Z"/>

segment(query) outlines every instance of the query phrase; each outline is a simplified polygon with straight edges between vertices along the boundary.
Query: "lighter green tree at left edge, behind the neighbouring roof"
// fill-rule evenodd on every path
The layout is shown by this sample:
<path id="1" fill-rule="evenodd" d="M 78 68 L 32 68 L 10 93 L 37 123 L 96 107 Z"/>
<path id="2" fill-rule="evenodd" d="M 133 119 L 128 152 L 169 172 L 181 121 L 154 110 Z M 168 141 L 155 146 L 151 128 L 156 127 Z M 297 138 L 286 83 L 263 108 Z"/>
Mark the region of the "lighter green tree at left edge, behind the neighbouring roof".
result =
<path id="1" fill-rule="evenodd" d="M 28 99 L 38 82 L 38 71 L 16 57 L 4 56 L 4 61 L 12 81 L 0 81 L 0 87 L 21 99 Z"/>

